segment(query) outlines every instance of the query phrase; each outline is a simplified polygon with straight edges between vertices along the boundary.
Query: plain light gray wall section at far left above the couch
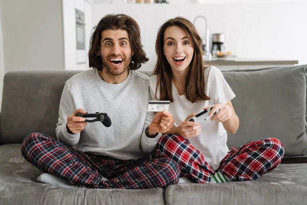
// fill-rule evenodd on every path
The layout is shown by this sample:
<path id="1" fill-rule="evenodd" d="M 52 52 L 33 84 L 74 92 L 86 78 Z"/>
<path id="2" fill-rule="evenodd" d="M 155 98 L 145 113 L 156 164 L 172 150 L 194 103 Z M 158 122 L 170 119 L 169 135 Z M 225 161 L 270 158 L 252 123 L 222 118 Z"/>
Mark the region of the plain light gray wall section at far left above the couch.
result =
<path id="1" fill-rule="evenodd" d="M 64 69 L 61 2 L 0 0 L 4 73 Z"/>

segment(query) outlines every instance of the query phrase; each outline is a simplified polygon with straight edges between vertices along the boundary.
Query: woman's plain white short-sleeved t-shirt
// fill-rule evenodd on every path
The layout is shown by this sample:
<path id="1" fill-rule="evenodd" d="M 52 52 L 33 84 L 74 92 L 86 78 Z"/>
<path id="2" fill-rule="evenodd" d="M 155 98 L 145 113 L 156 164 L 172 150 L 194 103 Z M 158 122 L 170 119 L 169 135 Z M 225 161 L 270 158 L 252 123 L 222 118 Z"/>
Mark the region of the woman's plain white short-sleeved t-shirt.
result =
<path id="1" fill-rule="evenodd" d="M 184 95 L 179 95 L 176 87 L 172 84 L 173 103 L 169 105 L 169 112 L 180 126 L 189 114 L 200 113 L 205 107 L 216 105 L 218 103 L 226 104 L 235 97 L 228 83 L 226 82 L 222 72 L 214 66 L 205 69 L 206 95 L 210 100 L 203 100 L 199 103 L 191 103 Z M 155 98 L 157 87 L 157 76 L 153 75 L 149 78 L 149 87 L 151 99 Z M 157 98 L 160 92 L 158 90 Z M 218 168 L 220 161 L 227 155 L 229 149 L 227 147 L 227 132 L 222 123 L 214 120 L 201 122 L 201 134 L 189 138 L 191 145 L 198 149 L 205 157 L 213 170 Z"/>

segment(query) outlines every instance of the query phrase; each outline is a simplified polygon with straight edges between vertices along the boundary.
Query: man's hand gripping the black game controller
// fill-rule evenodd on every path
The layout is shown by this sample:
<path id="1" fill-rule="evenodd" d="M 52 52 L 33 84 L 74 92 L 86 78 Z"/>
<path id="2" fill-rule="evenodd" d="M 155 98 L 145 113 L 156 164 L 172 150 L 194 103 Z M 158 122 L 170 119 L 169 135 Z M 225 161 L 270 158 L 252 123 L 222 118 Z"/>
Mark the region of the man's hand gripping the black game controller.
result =
<path id="1" fill-rule="evenodd" d="M 67 118 L 67 131 L 70 134 L 81 132 L 87 124 L 84 117 L 75 116 L 78 113 L 85 114 L 86 112 L 80 108 Z"/>

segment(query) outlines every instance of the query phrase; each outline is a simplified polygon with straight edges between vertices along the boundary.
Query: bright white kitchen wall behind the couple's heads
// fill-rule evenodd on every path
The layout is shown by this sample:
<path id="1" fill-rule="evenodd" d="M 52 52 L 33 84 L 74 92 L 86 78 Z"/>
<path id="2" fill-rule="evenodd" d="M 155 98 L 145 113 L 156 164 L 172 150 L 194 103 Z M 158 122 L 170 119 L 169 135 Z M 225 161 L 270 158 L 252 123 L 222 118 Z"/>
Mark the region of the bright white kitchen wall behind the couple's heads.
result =
<path id="1" fill-rule="evenodd" d="M 286 1 L 231 4 L 96 4 L 93 26 L 107 13 L 125 13 L 141 27 L 142 43 L 150 58 L 141 69 L 153 69 L 156 61 L 155 41 L 158 28 L 168 18 L 196 15 L 207 18 L 211 33 L 224 32 L 226 45 L 233 54 L 249 58 L 280 58 L 307 64 L 307 3 Z M 204 37 L 204 22 L 196 27 Z"/>

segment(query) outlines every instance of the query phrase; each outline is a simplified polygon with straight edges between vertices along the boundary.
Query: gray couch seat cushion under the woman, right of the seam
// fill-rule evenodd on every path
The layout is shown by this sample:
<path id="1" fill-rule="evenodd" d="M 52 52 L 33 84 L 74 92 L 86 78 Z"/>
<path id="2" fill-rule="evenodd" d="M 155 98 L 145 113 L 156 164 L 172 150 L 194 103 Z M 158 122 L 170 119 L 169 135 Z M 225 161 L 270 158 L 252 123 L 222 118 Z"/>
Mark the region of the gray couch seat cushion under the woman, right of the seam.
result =
<path id="1" fill-rule="evenodd" d="M 254 181 L 179 183 L 165 190 L 166 204 L 307 204 L 307 163 L 282 164 Z"/>

